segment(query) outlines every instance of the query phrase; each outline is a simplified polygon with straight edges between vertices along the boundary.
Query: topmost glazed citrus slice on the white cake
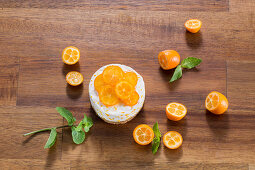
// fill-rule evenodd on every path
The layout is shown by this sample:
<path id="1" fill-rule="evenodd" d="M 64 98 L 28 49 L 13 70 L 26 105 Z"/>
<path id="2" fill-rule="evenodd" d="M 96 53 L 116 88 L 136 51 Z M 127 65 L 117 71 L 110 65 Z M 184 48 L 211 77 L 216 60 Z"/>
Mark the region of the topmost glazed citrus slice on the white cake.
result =
<path id="1" fill-rule="evenodd" d="M 119 66 L 108 66 L 103 71 L 104 82 L 110 85 L 116 85 L 123 79 L 124 72 Z"/>

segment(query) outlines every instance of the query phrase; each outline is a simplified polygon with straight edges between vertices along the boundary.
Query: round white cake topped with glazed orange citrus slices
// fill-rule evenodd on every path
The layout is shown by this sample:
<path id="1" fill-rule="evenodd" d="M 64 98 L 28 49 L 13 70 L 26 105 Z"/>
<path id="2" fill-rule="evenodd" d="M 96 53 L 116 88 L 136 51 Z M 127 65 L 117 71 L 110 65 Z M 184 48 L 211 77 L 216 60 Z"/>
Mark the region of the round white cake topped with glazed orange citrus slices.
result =
<path id="1" fill-rule="evenodd" d="M 97 70 L 89 83 L 90 102 L 97 115 L 107 123 L 123 124 L 143 107 L 143 78 L 131 67 L 110 64 Z"/>

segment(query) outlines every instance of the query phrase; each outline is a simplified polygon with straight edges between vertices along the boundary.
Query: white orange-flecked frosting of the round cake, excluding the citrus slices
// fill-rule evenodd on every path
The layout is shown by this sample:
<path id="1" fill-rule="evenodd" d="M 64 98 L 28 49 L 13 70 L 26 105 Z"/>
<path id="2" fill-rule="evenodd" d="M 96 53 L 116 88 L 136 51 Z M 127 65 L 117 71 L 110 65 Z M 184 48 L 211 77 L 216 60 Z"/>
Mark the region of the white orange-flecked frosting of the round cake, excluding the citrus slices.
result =
<path id="1" fill-rule="evenodd" d="M 102 104 L 99 100 L 98 92 L 95 90 L 94 87 L 94 81 L 95 78 L 102 74 L 103 70 L 110 65 L 116 65 L 122 68 L 124 72 L 132 71 L 136 73 L 138 77 L 137 85 L 136 85 L 136 92 L 139 94 L 139 100 L 136 105 L 134 106 L 126 106 L 122 103 L 119 103 L 117 105 L 106 107 L 104 104 Z M 102 118 L 104 121 L 108 123 L 126 123 L 127 121 L 131 120 L 133 117 L 137 115 L 137 113 L 142 109 L 143 103 L 145 100 L 145 85 L 143 78 L 140 74 L 138 74 L 134 69 L 131 67 L 121 65 L 121 64 L 109 64 L 106 66 L 101 67 L 99 70 L 97 70 L 93 76 L 91 77 L 90 83 L 89 83 L 89 97 L 90 102 L 97 113 L 97 115 Z"/>

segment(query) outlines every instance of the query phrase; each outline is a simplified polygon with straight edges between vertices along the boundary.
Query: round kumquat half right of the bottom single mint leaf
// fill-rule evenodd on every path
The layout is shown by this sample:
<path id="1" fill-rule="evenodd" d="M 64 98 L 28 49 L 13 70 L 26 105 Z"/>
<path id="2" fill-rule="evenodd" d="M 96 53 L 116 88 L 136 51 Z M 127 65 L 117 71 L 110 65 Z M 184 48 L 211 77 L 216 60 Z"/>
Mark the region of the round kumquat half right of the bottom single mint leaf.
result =
<path id="1" fill-rule="evenodd" d="M 163 136 L 163 143 L 169 149 L 177 149 L 182 145 L 182 135 L 175 131 L 169 131 Z"/>

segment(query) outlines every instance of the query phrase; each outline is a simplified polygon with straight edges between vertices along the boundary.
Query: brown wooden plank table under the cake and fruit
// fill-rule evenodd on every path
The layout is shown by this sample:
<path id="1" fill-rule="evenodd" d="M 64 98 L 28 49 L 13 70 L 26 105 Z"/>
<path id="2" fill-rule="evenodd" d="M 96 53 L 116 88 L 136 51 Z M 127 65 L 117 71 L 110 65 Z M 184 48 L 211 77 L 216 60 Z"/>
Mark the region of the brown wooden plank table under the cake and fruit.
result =
<path id="1" fill-rule="evenodd" d="M 0 167 L 1 169 L 255 169 L 255 1 L 253 0 L 44 0 L 0 2 Z M 184 22 L 202 20 L 190 34 Z M 75 66 L 61 60 L 76 46 Z M 181 59 L 203 59 L 173 84 L 173 71 L 159 68 L 165 49 Z M 111 125 L 90 106 L 88 83 L 101 66 L 121 63 L 139 72 L 146 85 L 143 110 L 124 125 Z M 83 86 L 66 84 L 78 70 Z M 222 116 L 205 110 L 213 90 L 229 99 Z M 172 122 L 169 102 L 181 102 L 187 116 Z M 66 122 L 63 106 L 77 120 L 91 116 L 94 127 L 81 145 L 70 129 L 59 130 L 52 149 L 43 149 L 48 132 L 22 134 Z M 176 130 L 184 142 L 177 150 L 139 146 L 132 138 L 141 123 L 156 121 L 162 133 Z"/>

